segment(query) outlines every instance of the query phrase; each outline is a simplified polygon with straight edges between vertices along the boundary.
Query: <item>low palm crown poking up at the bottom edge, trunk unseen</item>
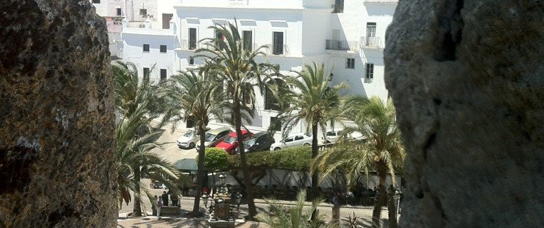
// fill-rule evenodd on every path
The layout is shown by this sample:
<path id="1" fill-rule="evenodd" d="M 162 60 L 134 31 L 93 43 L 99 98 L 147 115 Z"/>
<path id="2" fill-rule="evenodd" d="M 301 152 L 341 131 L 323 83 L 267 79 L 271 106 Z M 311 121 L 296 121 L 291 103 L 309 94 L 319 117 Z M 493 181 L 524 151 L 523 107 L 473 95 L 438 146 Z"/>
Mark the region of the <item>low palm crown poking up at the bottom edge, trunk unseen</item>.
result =
<path id="1" fill-rule="evenodd" d="M 286 207 L 276 200 L 268 200 L 270 212 L 260 212 L 259 222 L 268 224 L 271 228 L 318 228 L 324 227 L 323 215 L 318 212 L 318 206 L 323 199 L 314 200 L 309 208 L 304 207 L 306 191 L 298 192 L 295 206 Z"/>

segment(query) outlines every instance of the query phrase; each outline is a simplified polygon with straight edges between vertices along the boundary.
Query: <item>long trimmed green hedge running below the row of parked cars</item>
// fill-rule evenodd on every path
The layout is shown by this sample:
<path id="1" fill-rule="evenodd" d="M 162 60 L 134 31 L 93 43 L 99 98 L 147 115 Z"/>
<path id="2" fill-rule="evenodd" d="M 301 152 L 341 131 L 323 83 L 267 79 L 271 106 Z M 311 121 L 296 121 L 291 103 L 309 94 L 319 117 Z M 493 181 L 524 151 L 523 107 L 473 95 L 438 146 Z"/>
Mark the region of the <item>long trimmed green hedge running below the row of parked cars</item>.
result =
<path id="1" fill-rule="evenodd" d="M 246 153 L 249 168 L 277 168 L 282 170 L 302 171 L 310 168 L 312 148 L 310 146 L 292 146 L 279 151 L 260 151 Z M 229 169 L 240 168 L 240 155 L 229 156 Z"/>

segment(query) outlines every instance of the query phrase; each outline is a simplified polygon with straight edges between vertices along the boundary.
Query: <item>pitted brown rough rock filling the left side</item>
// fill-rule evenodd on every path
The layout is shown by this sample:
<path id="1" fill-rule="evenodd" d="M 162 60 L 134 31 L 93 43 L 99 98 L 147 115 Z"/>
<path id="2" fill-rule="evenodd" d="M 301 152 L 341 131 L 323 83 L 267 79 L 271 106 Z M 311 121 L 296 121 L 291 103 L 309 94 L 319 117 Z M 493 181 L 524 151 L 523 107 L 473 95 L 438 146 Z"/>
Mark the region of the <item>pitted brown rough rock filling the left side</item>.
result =
<path id="1" fill-rule="evenodd" d="M 0 9 L 0 227 L 115 227 L 105 21 L 89 1 Z"/>

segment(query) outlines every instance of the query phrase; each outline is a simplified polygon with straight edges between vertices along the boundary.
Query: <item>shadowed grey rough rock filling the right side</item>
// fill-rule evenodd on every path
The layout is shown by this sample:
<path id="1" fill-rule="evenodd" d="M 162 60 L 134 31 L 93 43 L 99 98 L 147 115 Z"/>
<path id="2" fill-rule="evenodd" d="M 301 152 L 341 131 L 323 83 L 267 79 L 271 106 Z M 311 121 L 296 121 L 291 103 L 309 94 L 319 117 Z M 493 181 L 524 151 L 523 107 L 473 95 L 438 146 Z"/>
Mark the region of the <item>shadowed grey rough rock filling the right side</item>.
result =
<path id="1" fill-rule="evenodd" d="M 385 77 L 408 153 L 401 227 L 543 227 L 543 4 L 399 1 Z"/>

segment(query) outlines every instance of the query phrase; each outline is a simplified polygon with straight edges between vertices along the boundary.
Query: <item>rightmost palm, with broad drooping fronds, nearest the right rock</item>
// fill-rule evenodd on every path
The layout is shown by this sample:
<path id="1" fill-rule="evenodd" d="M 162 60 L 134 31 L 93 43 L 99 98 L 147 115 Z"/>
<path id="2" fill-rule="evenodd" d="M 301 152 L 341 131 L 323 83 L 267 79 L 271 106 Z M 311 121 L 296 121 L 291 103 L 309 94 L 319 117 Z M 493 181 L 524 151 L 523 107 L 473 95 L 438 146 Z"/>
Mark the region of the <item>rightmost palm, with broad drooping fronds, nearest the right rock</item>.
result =
<path id="1" fill-rule="evenodd" d="M 372 211 L 372 227 L 380 227 L 382 205 L 385 204 L 387 175 L 395 184 L 394 171 L 402 167 L 405 153 L 401 133 L 397 128 L 393 103 L 378 97 L 348 97 L 343 104 L 343 116 L 355 123 L 346 126 L 342 139 L 328 151 L 315 158 L 312 169 L 323 175 L 346 173 L 348 183 L 357 181 L 360 173 L 375 171 L 378 176 L 378 196 Z M 359 131 L 363 141 L 349 141 L 347 134 Z M 389 224 L 397 220 L 389 218 Z"/>

